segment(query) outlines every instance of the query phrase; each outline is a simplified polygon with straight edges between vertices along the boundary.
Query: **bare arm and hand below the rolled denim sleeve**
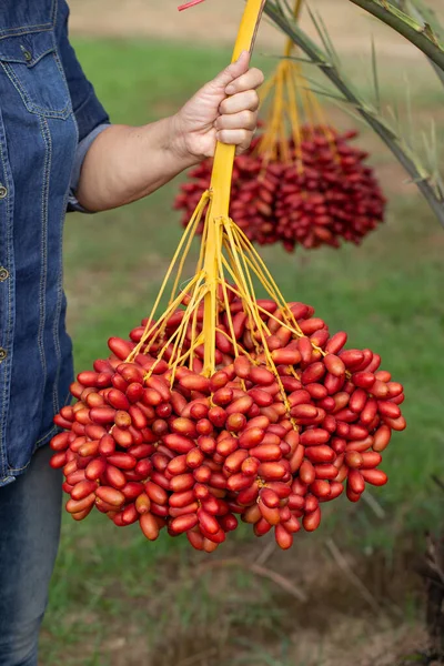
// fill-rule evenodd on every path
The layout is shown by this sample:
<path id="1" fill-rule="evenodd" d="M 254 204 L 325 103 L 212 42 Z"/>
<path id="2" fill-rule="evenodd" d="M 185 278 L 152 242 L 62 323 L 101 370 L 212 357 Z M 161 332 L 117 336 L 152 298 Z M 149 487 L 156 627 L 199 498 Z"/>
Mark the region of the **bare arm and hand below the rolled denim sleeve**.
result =
<path id="1" fill-rule="evenodd" d="M 140 128 L 110 125 L 92 142 L 77 198 L 89 211 L 124 205 L 214 154 L 216 140 L 246 150 L 256 127 L 262 72 L 249 54 L 204 85 L 175 115 Z M 230 97 L 229 97 L 230 95 Z"/>

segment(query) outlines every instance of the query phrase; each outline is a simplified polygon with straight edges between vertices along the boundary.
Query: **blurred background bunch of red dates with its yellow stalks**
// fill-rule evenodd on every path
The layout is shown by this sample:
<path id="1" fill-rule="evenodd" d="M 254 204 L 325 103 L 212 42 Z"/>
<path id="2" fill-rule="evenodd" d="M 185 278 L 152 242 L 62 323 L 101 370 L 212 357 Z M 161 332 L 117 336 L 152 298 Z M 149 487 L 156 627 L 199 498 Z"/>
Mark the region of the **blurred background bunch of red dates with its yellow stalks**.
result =
<path id="1" fill-rule="evenodd" d="M 296 0 L 296 17 L 301 4 Z M 385 199 L 365 163 L 367 153 L 351 142 L 356 132 L 326 123 L 292 50 L 289 41 L 263 87 L 265 129 L 234 161 L 230 213 L 252 242 L 281 241 L 289 252 L 297 245 L 339 248 L 341 240 L 360 244 L 383 221 Z M 209 186 L 211 169 L 212 161 L 204 161 L 181 186 L 174 206 L 183 210 L 184 224 Z"/>

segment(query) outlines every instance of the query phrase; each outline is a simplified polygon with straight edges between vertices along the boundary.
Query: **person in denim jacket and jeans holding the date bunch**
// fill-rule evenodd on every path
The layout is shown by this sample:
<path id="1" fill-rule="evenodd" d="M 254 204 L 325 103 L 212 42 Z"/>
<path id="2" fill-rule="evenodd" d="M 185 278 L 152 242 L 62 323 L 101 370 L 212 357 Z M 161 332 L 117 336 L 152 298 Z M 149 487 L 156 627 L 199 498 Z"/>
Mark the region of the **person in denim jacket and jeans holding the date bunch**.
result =
<path id="1" fill-rule="evenodd" d="M 212 155 L 216 140 L 248 149 L 263 81 L 242 53 L 171 118 L 112 124 L 69 42 L 68 18 L 65 0 L 0 3 L 1 666 L 37 666 L 59 542 L 61 475 L 48 443 L 73 380 L 65 212 L 147 196 Z"/>

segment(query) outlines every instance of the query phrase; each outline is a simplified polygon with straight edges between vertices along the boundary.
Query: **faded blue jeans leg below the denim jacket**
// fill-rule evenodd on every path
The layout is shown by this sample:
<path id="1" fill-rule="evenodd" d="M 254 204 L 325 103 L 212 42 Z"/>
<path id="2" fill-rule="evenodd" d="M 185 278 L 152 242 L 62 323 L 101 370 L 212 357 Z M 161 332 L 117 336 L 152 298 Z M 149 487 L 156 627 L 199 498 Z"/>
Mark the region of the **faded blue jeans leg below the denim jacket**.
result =
<path id="1" fill-rule="evenodd" d="M 41 620 L 60 537 L 62 476 L 43 446 L 0 488 L 0 666 L 37 666 Z"/>

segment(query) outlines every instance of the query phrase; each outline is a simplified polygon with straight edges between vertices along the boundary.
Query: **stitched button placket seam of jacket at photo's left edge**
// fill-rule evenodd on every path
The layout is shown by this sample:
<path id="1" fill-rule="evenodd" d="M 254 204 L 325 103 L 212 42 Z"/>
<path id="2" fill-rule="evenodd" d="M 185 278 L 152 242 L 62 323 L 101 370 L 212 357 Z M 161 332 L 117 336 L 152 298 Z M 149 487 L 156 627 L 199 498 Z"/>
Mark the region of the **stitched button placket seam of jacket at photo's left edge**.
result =
<path id="1" fill-rule="evenodd" d="M 4 134 L 4 125 L 3 125 L 3 120 L 1 117 L 1 111 L 0 111 L 0 125 L 2 129 L 2 133 L 0 137 L 0 160 L 2 162 L 2 167 L 3 167 L 3 173 L 4 173 L 4 179 L 6 179 L 6 185 L 8 188 L 9 191 L 9 195 L 6 198 L 6 200 L 3 200 L 3 203 L 6 205 L 6 215 L 7 215 L 7 254 L 8 254 L 8 261 L 9 261 L 9 266 L 12 273 L 12 270 L 14 269 L 14 261 L 13 261 L 13 228 L 12 228 L 12 215 L 13 215 L 13 181 L 12 181 L 12 174 L 10 173 L 10 169 L 9 169 L 9 163 L 7 161 L 7 145 L 6 145 L 6 134 Z M 4 143 L 3 143 L 4 141 Z M 8 221 L 10 221 L 11 223 L 8 224 Z M 6 361 L 3 361 L 4 365 L 3 365 L 3 371 L 4 371 L 4 384 L 3 384 L 3 389 L 2 389 L 2 412 L 1 412 L 1 420 L 0 420 L 0 455 L 1 455 L 1 468 L 2 472 L 4 473 L 6 470 L 8 468 L 8 452 L 7 452 L 7 445 L 6 445 L 6 441 L 4 441 L 4 435 L 7 432 L 7 423 L 8 423 L 8 413 L 9 413 L 9 400 L 10 400 L 10 386 L 11 386 L 11 369 L 12 369 L 12 356 L 13 356 L 13 347 L 11 345 L 11 342 L 13 343 L 13 331 L 14 331 L 14 320 L 13 320 L 13 314 L 14 314 L 14 285 L 13 285 L 13 280 L 9 280 L 8 281 L 8 330 L 6 331 L 4 335 L 6 335 L 6 340 L 8 342 L 8 345 L 10 346 L 10 353 L 9 356 L 6 359 Z"/>

